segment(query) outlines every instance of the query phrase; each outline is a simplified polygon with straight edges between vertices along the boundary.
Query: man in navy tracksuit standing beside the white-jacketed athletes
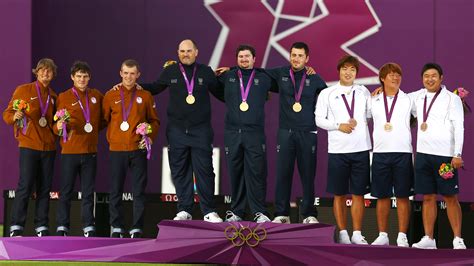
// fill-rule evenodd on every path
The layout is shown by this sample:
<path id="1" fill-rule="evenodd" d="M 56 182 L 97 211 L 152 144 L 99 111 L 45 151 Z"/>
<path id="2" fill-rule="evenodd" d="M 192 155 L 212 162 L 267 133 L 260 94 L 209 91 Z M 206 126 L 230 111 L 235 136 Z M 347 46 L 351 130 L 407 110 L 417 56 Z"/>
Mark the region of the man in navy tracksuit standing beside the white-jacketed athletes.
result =
<path id="1" fill-rule="evenodd" d="M 294 43 L 290 49 L 291 66 L 267 70 L 267 73 L 278 82 L 280 93 L 275 219 L 273 220 L 279 223 L 290 222 L 290 196 L 295 159 L 303 187 L 301 217 L 304 223 L 317 222 L 317 212 L 314 208 L 317 154 L 314 110 L 319 93 L 327 85 L 317 74 L 306 75 L 305 65 L 308 60 L 308 46 L 298 42 Z M 303 76 L 304 84 L 301 87 Z"/>

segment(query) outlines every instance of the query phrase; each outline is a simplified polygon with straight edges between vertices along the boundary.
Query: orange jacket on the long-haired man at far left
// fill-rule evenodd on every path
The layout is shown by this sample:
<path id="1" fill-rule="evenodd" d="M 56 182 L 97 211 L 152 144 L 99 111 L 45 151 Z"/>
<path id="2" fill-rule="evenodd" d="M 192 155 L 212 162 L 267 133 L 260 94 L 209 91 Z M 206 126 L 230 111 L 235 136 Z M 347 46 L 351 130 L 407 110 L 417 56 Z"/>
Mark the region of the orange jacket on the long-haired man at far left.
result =
<path id="1" fill-rule="evenodd" d="M 48 91 L 50 95 L 48 109 L 46 111 L 45 118 L 48 122 L 46 127 L 41 127 L 39 125 L 39 120 L 41 118 L 41 108 L 39 103 L 39 97 L 36 92 L 36 82 L 27 83 L 18 86 L 13 92 L 13 96 L 8 103 L 7 109 L 3 111 L 3 120 L 8 125 L 13 125 L 15 138 L 18 140 L 18 147 L 29 148 L 39 151 L 54 151 L 56 150 L 56 139 L 52 127 L 53 127 L 53 115 L 56 112 L 55 103 L 57 95 L 51 88 L 45 88 L 38 82 L 40 85 L 40 95 L 43 100 L 43 104 L 46 104 L 46 99 L 48 97 Z M 26 133 L 23 134 L 22 130 L 17 127 L 13 116 L 15 110 L 13 110 L 13 101 L 14 100 L 24 100 L 28 102 L 30 110 L 25 113 L 27 118 L 27 127 Z M 17 130 L 20 130 L 19 134 Z"/>

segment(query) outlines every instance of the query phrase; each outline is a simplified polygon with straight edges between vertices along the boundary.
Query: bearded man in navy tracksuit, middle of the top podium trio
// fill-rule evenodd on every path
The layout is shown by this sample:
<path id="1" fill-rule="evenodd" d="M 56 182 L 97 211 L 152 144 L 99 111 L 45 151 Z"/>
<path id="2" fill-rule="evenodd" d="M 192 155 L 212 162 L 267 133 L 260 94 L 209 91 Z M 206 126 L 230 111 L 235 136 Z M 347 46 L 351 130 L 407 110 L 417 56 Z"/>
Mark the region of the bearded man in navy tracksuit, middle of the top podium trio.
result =
<path id="1" fill-rule="evenodd" d="M 227 106 L 224 143 L 232 191 L 226 220 L 242 220 L 248 202 L 254 220 L 268 222 L 264 107 L 272 80 L 264 70 L 253 67 L 253 47 L 240 45 L 236 56 L 238 67 L 219 77 Z"/>

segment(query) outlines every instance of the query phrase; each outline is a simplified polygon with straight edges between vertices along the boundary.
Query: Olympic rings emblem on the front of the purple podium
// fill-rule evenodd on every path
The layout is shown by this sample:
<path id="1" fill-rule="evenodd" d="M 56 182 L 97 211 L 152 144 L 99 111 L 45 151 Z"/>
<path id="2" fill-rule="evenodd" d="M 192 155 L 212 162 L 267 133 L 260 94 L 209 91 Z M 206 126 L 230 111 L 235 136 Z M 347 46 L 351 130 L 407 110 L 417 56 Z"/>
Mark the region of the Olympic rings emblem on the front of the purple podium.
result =
<path id="1" fill-rule="evenodd" d="M 234 247 L 241 247 L 247 244 L 249 247 L 254 248 L 267 238 L 267 230 L 260 226 L 252 229 L 242 225 L 240 225 L 239 228 L 235 225 L 229 225 L 224 230 L 224 235 L 227 240 L 232 242 Z"/>

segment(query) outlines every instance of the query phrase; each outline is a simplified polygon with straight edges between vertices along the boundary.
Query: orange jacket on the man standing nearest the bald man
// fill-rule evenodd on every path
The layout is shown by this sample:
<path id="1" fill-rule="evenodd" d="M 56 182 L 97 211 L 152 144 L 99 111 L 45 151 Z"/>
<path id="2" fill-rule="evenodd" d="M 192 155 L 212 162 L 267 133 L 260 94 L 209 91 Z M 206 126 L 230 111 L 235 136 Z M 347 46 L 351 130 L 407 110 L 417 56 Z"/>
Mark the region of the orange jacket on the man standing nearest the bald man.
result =
<path id="1" fill-rule="evenodd" d="M 127 131 L 120 129 L 122 119 L 122 100 L 120 98 L 120 90 L 124 94 L 124 107 L 127 110 L 133 91 L 135 97 L 130 109 L 127 122 L 130 125 Z M 120 90 L 111 90 L 105 94 L 102 102 L 102 110 L 104 120 L 107 121 L 107 141 L 111 151 L 134 151 L 138 150 L 138 143 L 141 136 L 135 133 L 138 124 L 147 122 L 151 125 L 152 133 L 149 137 L 153 140 L 158 135 L 160 120 L 155 109 L 155 101 L 148 91 L 136 90 L 132 88 L 127 90 L 123 87 Z"/>

